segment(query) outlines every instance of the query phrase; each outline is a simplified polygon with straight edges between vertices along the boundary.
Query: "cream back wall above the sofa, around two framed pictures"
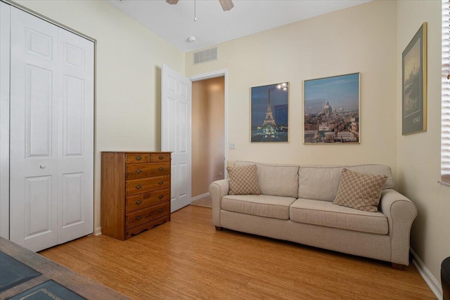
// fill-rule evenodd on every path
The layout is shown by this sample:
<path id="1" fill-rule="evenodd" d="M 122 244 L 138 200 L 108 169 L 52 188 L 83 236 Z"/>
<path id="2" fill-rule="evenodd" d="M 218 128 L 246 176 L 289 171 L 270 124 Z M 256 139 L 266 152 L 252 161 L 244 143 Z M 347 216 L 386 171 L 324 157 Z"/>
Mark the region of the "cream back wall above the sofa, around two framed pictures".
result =
<path id="1" fill-rule="evenodd" d="M 396 171 L 397 4 L 374 1 L 218 45 L 186 75 L 229 71 L 229 162 L 387 164 Z M 361 144 L 303 145 L 305 79 L 361 72 Z M 289 143 L 250 143 L 250 88 L 290 82 Z"/>

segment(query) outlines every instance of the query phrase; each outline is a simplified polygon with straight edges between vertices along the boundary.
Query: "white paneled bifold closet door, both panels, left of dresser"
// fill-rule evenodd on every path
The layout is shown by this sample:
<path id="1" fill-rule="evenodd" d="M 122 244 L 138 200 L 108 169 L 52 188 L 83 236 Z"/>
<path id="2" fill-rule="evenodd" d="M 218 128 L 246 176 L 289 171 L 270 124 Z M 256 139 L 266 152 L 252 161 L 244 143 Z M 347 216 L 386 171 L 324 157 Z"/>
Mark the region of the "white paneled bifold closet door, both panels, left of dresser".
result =
<path id="1" fill-rule="evenodd" d="M 10 238 L 93 232 L 93 43 L 11 8 Z"/>

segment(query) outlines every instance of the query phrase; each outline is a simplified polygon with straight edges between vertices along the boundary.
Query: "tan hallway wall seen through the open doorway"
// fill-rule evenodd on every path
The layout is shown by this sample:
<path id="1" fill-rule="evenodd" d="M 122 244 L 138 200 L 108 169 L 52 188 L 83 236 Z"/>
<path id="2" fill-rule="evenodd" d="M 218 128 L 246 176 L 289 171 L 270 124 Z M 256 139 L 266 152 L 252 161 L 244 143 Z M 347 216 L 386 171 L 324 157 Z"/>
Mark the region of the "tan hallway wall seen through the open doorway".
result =
<path id="1" fill-rule="evenodd" d="M 192 83 L 192 197 L 224 178 L 224 77 Z"/>

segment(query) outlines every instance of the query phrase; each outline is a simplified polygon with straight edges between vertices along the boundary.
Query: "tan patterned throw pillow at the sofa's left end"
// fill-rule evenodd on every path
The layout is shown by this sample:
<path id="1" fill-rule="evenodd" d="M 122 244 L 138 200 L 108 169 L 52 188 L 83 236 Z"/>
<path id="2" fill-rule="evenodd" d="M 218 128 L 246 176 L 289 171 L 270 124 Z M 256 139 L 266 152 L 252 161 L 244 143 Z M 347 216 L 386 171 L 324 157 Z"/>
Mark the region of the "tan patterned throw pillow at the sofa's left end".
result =
<path id="1" fill-rule="evenodd" d="M 230 179 L 229 195 L 259 195 L 256 164 L 226 167 Z"/>

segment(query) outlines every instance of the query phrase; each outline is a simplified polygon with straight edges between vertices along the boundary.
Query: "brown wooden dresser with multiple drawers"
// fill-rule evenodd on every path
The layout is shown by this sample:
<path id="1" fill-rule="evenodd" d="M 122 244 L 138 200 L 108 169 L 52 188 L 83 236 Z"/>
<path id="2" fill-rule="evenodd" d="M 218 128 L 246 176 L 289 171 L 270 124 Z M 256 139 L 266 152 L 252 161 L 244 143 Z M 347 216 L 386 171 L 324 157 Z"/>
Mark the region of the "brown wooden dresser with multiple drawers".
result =
<path id="1" fill-rule="evenodd" d="M 170 221 L 170 167 L 170 152 L 102 152 L 102 234 L 127 240 Z"/>

